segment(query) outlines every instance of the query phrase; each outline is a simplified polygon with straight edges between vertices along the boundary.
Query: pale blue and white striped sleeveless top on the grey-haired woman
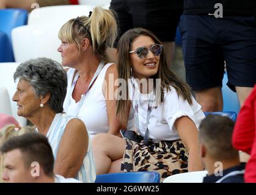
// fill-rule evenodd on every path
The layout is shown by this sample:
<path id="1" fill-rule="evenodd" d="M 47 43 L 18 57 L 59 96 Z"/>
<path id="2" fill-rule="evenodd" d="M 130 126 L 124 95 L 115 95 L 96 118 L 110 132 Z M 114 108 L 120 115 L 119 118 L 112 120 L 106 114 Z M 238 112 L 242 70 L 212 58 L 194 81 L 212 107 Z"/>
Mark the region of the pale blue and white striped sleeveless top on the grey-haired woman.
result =
<path id="1" fill-rule="evenodd" d="M 73 118 L 75 117 L 68 116 L 66 113 L 57 113 L 49 127 L 46 137 L 48 138 L 51 149 L 53 150 L 54 160 L 56 160 L 59 143 L 64 134 L 67 123 Z M 38 132 L 38 129 L 35 130 Z M 84 183 L 93 183 L 96 179 L 96 168 L 93 160 L 90 138 L 87 154 L 84 156 L 84 161 L 75 179 Z"/>

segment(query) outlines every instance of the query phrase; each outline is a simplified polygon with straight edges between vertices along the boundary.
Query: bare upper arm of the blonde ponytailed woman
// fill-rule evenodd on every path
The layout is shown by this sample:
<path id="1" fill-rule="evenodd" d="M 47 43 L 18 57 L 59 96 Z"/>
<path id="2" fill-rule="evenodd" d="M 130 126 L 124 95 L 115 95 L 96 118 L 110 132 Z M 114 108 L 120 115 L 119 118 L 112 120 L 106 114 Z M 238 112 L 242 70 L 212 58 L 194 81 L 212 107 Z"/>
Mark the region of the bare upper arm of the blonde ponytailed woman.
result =
<path id="1" fill-rule="evenodd" d="M 106 106 L 108 112 L 108 124 L 109 124 L 109 131 L 108 133 L 112 135 L 117 135 L 121 137 L 119 130 L 120 124 L 115 114 L 116 110 L 116 100 L 115 100 L 115 91 L 117 91 L 118 86 L 114 85 L 115 80 L 118 78 L 117 73 L 117 65 L 109 66 L 108 70 L 106 71 L 105 81 L 106 85 L 104 86 L 104 97 L 106 98 Z"/>

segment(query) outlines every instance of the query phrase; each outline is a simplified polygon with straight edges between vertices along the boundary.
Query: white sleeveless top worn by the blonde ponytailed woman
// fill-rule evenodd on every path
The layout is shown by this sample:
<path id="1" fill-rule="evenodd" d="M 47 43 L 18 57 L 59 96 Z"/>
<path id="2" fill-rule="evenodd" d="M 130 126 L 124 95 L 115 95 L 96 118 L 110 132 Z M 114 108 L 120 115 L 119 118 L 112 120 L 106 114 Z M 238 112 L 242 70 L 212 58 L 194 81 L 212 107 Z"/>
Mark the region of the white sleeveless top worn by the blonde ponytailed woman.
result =
<path id="1" fill-rule="evenodd" d="M 98 74 L 95 83 L 93 83 L 92 87 L 87 93 L 77 115 L 77 117 L 84 121 L 84 124 L 86 124 L 86 129 L 91 139 L 98 133 L 108 133 L 109 130 L 108 113 L 106 107 L 106 99 L 103 94 L 103 86 L 106 71 L 112 64 L 113 63 L 107 63 L 106 65 L 104 65 L 103 69 L 101 69 L 100 74 Z M 67 98 L 67 96 L 70 95 L 75 72 L 76 69 L 74 68 L 70 68 L 67 71 L 68 86 L 67 95 L 64 101 L 64 111 L 71 116 L 75 116 L 76 107 L 78 107 L 79 105 L 79 102 L 75 102 L 72 96 L 71 98 Z M 70 99 L 69 102 L 68 99 Z M 115 111 L 113 110 L 113 112 Z M 133 116 L 131 116 L 130 118 L 133 118 Z M 130 126 L 131 127 L 128 127 L 130 129 L 134 127 L 133 122 L 130 123 Z"/>

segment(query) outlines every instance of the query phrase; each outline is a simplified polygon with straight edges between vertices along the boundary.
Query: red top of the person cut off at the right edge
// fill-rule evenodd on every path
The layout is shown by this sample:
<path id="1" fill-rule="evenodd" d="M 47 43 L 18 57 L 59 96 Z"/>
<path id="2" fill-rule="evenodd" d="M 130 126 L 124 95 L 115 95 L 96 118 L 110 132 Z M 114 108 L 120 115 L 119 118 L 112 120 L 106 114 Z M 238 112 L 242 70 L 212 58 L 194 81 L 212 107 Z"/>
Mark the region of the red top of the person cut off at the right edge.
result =
<path id="1" fill-rule="evenodd" d="M 256 85 L 240 110 L 233 132 L 233 146 L 250 154 L 245 182 L 256 182 Z"/>

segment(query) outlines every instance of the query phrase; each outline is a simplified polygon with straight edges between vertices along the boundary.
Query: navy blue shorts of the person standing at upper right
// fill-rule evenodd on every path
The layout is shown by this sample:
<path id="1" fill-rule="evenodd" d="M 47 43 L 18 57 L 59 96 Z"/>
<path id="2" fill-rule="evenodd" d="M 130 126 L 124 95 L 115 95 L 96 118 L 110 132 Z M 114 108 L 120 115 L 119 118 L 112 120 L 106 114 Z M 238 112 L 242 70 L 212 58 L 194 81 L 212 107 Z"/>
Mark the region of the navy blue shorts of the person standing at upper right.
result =
<path id="1" fill-rule="evenodd" d="M 226 63 L 227 85 L 254 87 L 256 83 L 256 19 L 254 16 L 182 15 L 180 32 L 186 81 L 192 90 L 222 87 Z"/>

